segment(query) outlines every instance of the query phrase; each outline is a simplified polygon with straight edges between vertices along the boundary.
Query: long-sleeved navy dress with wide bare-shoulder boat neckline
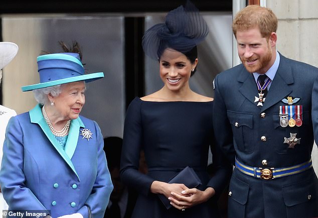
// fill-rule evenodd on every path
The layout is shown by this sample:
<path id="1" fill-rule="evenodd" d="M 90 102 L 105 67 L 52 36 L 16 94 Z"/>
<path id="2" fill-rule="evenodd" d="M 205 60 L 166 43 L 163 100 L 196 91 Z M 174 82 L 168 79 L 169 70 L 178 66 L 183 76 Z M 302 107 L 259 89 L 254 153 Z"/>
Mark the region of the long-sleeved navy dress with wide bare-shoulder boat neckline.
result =
<path id="1" fill-rule="evenodd" d="M 212 125 L 213 101 L 143 101 L 134 98 L 127 110 L 121 179 L 139 196 L 132 218 L 219 217 L 216 197 L 181 211 L 167 209 L 157 194 L 150 192 L 154 180 L 168 182 L 186 166 L 193 167 L 202 181 L 198 187 L 213 187 L 216 195 L 228 184 L 231 166 L 217 150 Z M 209 147 L 213 154 L 213 176 L 207 171 Z M 138 171 L 143 149 L 148 174 Z"/>

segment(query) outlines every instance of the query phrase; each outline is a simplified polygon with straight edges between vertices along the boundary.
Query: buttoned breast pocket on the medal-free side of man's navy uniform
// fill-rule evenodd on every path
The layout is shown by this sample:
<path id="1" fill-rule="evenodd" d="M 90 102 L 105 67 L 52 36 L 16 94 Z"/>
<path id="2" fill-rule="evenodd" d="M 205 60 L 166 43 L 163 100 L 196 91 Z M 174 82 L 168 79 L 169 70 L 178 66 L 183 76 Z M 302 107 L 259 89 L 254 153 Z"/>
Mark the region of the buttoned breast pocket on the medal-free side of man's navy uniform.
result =
<path id="1" fill-rule="evenodd" d="M 234 146 L 239 151 L 252 153 L 254 151 L 253 114 L 227 111 L 232 126 Z"/>

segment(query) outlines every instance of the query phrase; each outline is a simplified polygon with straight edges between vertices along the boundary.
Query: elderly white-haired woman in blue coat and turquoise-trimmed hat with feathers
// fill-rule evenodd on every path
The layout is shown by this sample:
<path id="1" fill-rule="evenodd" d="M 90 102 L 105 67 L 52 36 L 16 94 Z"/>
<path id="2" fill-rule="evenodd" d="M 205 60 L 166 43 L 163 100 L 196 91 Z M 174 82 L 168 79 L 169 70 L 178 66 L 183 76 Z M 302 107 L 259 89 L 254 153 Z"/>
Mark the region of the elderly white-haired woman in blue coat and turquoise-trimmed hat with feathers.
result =
<path id="1" fill-rule="evenodd" d="M 39 104 L 9 121 L 0 184 L 11 210 L 101 218 L 113 189 L 103 137 L 95 121 L 79 114 L 85 82 L 104 74 L 84 74 L 76 42 L 62 47 L 65 53 L 39 56 L 40 83 L 22 87 Z"/>

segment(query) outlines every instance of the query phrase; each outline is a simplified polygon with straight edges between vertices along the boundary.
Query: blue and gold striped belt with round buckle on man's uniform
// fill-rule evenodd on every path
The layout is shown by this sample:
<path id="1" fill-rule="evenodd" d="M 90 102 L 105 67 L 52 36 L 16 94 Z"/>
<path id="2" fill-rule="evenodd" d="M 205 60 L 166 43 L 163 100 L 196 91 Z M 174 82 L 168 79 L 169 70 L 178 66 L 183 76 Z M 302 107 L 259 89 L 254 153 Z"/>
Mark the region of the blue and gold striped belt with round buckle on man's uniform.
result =
<path id="1" fill-rule="evenodd" d="M 263 180 L 270 180 L 275 178 L 280 178 L 284 176 L 290 176 L 297 173 L 301 173 L 305 170 L 308 170 L 312 167 L 311 159 L 301 164 L 297 164 L 290 167 L 283 168 L 261 168 L 261 167 L 250 167 L 247 166 L 235 158 L 235 167 L 242 173 L 253 176 L 255 178 L 260 178 Z"/>

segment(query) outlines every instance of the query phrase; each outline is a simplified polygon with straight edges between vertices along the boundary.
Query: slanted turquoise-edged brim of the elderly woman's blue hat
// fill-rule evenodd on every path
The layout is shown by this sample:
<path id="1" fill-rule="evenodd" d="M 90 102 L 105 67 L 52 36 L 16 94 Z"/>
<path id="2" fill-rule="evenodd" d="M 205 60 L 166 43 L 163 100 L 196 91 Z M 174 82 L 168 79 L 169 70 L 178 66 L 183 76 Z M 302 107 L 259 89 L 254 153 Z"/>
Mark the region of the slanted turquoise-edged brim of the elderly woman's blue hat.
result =
<path id="1" fill-rule="evenodd" d="M 69 77 L 65 79 L 58 79 L 50 82 L 43 82 L 43 83 L 38 83 L 34 85 L 26 85 L 22 86 L 21 89 L 22 91 L 31 91 L 34 89 L 39 89 L 39 88 L 46 88 L 54 85 L 60 85 L 60 84 L 65 84 L 65 83 L 70 83 L 70 82 L 77 82 L 77 81 L 85 81 L 85 82 L 91 82 L 97 79 L 101 79 L 104 77 L 103 72 L 99 73 L 90 73 L 86 75 L 81 75 L 81 76 L 74 76 L 74 77 Z"/>

